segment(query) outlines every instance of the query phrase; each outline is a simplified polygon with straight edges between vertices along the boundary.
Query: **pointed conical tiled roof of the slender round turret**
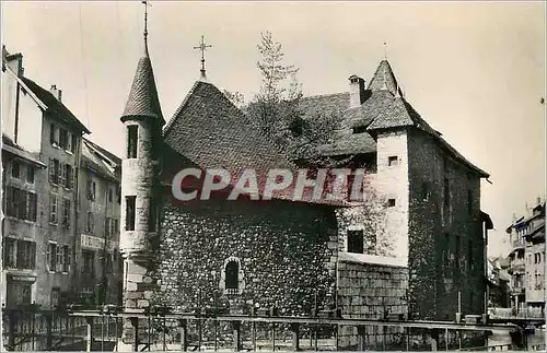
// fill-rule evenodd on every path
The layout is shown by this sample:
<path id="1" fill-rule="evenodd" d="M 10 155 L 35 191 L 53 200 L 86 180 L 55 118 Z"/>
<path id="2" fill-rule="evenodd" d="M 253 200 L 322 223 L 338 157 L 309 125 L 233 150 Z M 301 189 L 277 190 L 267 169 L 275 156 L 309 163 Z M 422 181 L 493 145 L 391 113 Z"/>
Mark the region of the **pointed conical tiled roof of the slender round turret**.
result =
<path id="1" fill-rule="evenodd" d="M 150 117 L 159 119 L 162 126 L 165 123 L 148 50 L 137 64 L 133 83 L 121 120 L 130 117 Z"/>

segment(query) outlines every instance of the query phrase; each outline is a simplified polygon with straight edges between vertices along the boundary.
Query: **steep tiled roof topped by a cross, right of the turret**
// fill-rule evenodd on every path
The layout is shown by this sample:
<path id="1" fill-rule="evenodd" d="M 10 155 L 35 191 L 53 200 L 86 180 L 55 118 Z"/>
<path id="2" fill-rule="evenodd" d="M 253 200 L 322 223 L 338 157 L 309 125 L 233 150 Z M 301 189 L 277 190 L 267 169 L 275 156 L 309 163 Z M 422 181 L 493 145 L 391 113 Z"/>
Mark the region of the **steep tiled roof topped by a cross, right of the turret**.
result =
<path id="1" fill-rule="evenodd" d="M 197 81 L 164 129 L 166 184 L 174 176 L 172 165 L 198 167 L 201 170 L 222 168 L 235 176 L 229 188 L 235 187 L 245 169 L 254 169 L 263 190 L 270 169 L 295 170 L 288 157 L 278 151 L 259 130 L 213 84 Z M 275 199 L 292 199 L 293 189 L 274 192 Z M 310 191 L 310 195 L 306 195 Z M 302 202 L 310 202 L 312 189 L 306 189 Z M 312 203 L 342 205 L 344 202 L 312 200 Z"/>

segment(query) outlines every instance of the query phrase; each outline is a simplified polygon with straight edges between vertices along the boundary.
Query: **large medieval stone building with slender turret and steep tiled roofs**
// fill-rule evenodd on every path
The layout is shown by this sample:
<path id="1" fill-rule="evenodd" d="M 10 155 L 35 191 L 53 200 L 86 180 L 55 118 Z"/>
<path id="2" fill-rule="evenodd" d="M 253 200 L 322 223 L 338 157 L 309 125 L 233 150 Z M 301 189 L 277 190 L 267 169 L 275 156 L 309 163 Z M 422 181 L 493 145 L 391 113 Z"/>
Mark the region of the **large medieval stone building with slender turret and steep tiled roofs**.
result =
<path id="1" fill-rule="evenodd" d="M 365 187 L 376 191 L 377 208 L 283 195 L 228 201 L 217 193 L 207 201 L 175 202 L 173 177 L 182 168 L 207 178 L 203 170 L 211 168 L 264 175 L 295 166 L 206 78 L 205 68 L 162 129 L 144 32 L 121 116 L 126 310 L 167 305 L 249 313 L 276 306 L 309 315 L 314 307 L 338 307 L 344 317 L 451 320 L 458 307 L 463 314 L 484 313 L 485 238 L 492 224 L 480 211 L 480 179 L 488 174 L 411 108 L 386 60 L 368 86 L 353 75 L 349 93 L 306 102 L 309 116 L 324 114 L 322 107 L 341 113 L 345 129 L 322 153 L 365 166 Z M 237 188 L 231 183 L 229 190 Z M 199 183 L 181 187 L 191 191 Z M 371 220 L 374 212 L 380 216 Z M 340 345 L 356 344 L 354 333 L 341 328 Z"/>

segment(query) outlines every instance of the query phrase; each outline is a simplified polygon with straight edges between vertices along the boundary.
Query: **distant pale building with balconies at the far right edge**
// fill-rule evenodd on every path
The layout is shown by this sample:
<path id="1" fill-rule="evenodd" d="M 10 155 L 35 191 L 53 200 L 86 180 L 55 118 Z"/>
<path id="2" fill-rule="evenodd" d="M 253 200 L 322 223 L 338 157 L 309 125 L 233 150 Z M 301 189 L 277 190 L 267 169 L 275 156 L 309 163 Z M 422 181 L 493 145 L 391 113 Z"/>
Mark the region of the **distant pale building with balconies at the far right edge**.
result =
<path id="1" fill-rule="evenodd" d="M 513 221 L 507 233 L 512 245 L 511 306 L 545 308 L 545 201 L 538 199 L 531 214 Z"/>

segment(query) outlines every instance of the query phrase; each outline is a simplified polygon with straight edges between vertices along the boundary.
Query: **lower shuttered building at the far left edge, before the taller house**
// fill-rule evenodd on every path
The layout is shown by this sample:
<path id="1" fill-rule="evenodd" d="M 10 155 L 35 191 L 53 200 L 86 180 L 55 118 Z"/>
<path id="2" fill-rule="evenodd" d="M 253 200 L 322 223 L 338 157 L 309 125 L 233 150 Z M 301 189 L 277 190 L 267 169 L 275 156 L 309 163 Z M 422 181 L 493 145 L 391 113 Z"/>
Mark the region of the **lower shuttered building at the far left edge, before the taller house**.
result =
<path id="1" fill-rule="evenodd" d="M 45 251 L 43 213 L 47 183 L 46 165 L 2 136 L 2 249 L 1 299 L 5 307 L 47 303 L 36 279 L 45 271 L 45 261 L 36 254 Z M 47 202 L 47 201 L 46 201 Z"/>

